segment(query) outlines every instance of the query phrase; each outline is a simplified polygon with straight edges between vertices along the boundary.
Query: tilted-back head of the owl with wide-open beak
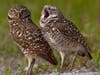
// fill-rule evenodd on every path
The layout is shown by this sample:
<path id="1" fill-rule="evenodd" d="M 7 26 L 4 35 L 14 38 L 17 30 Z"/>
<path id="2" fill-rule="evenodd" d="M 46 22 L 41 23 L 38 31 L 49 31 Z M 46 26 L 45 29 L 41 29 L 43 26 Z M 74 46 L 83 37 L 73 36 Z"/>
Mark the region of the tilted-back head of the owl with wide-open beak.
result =
<path id="1" fill-rule="evenodd" d="M 41 12 L 40 25 L 44 27 L 47 23 L 59 20 L 62 17 L 61 11 L 55 6 L 45 5 Z"/>

